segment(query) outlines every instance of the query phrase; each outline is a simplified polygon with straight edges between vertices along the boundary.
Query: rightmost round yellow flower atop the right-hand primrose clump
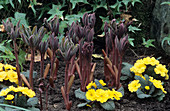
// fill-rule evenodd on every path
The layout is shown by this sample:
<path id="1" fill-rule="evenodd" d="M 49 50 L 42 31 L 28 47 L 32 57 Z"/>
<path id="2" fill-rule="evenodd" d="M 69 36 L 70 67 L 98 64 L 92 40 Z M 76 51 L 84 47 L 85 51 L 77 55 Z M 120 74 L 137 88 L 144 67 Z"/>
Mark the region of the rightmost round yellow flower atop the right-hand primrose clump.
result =
<path id="1" fill-rule="evenodd" d="M 162 64 L 157 65 L 156 68 L 154 68 L 154 71 L 156 74 L 160 74 L 162 77 L 165 77 L 165 75 L 168 73 L 166 66 Z"/>

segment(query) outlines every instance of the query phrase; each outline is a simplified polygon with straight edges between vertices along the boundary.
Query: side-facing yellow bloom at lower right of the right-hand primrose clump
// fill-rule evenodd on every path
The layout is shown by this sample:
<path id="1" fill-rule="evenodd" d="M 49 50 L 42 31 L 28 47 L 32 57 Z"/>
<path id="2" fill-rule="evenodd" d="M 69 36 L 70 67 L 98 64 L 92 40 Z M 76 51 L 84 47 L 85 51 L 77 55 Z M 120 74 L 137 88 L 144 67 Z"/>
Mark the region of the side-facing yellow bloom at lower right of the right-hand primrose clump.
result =
<path id="1" fill-rule="evenodd" d="M 165 89 L 163 88 L 162 82 L 160 80 L 156 80 L 156 79 L 153 79 L 153 77 L 150 77 L 149 81 L 151 81 L 156 88 L 161 89 L 162 92 L 164 92 L 165 94 L 167 93 Z"/>

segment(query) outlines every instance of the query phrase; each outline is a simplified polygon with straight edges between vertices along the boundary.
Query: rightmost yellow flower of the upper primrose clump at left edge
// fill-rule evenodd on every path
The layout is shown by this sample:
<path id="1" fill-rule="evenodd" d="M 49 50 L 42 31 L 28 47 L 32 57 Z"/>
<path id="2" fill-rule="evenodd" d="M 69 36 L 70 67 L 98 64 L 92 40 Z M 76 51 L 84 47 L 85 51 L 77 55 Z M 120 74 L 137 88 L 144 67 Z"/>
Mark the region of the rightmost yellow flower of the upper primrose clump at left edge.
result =
<path id="1" fill-rule="evenodd" d="M 9 70 L 7 73 L 7 78 L 9 79 L 10 82 L 18 82 L 18 75 L 15 71 Z"/>

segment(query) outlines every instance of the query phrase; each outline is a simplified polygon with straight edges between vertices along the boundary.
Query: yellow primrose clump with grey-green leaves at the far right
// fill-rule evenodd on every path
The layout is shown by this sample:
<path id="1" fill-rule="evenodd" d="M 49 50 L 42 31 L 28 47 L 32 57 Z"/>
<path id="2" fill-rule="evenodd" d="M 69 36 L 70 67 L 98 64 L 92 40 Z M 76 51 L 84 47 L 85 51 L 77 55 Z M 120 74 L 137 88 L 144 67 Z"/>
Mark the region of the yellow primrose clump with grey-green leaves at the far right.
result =
<path id="1" fill-rule="evenodd" d="M 131 68 L 127 71 L 129 66 Z M 122 69 L 122 73 L 127 71 L 129 74 L 124 73 L 123 79 L 126 79 L 126 77 L 132 79 L 128 84 L 130 92 L 136 92 L 137 97 L 141 99 L 154 97 L 159 101 L 163 100 L 167 92 L 161 80 L 169 79 L 168 70 L 165 65 L 160 64 L 154 57 L 146 57 L 137 60 L 134 66 L 126 64 L 125 67 Z"/>

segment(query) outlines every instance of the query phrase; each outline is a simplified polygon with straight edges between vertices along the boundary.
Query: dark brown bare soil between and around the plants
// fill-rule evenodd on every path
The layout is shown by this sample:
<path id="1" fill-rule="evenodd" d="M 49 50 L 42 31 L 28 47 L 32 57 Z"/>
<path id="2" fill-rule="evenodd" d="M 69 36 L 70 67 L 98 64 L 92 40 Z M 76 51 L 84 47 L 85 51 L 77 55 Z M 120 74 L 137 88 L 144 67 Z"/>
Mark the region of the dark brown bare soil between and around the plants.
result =
<path id="1" fill-rule="evenodd" d="M 136 54 L 133 51 L 137 52 Z M 158 50 L 158 48 L 138 48 L 136 50 L 128 49 L 124 55 L 123 62 L 128 62 L 133 64 L 137 59 L 143 58 L 146 56 L 154 56 L 155 58 L 161 57 L 160 63 L 167 65 L 167 68 L 170 69 L 170 59 L 169 57 L 164 54 L 162 50 Z M 103 60 L 101 59 L 94 59 L 93 62 L 97 63 L 94 78 L 95 79 L 103 79 L 104 80 L 104 67 L 103 67 Z M 45 64 L 50 63 L 47 59 Z M 40 72 L 40 63 L 34 64 L 34 70 Z M 25 64 L 25 68 L 29 68 L 29 62 Z M 55 89 L 49 88 L 48 91 L 48 109 L 47 111 L 67 111 L 65 109 L 64 100 L 61 94 L 61 86 L 64 85 L 64 71 L 65 71 L 65 63 L 60 61 L 59 64 L 59 71 L 57 75 L 57 80 L 55 81 Z M 46 81 L 48 82 L 48 81 Z M 45 83 L 46 83 L 45 82 Z M 116 101 L 115 111 L 170 111 L 170 80 L 166 81 L 165 90 L 167 91 L 166 96 L 162 101 L 157 101 L 153 98 L 149 99 L 139 99 L 137 98 L 135 93 L 130 93 L 127 88 L 128 82 L 122 81 L 122 85 L 125 90 L 125 95 L 120 101 Z M 46 84 L 47 85 L 47 84 Z M 45 85 L 45 86 L 46 86 Z M 38 79 L 34 79 L 34 86 L 37 97 L 39 97 L 39 90 L 38 90 Z M 75 73 L 75 80 L 72 85 L 69 97 L 72 100 L 72 107 L 71 111 L 104 111 L 102 107 L 98 104 L 95 104 L 95 107 L 83 107 L 78 108 L 77 105 L 79 103 L 83 103 L 84 101 L 79 100 L 75 97 L 74 91 L 80 87 L 80 80 L 77 73 Z M 43 107 L 45 108 L 45 97 L 43 94 Z"/>

